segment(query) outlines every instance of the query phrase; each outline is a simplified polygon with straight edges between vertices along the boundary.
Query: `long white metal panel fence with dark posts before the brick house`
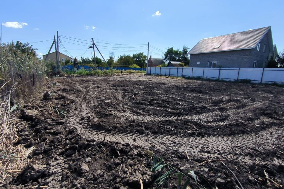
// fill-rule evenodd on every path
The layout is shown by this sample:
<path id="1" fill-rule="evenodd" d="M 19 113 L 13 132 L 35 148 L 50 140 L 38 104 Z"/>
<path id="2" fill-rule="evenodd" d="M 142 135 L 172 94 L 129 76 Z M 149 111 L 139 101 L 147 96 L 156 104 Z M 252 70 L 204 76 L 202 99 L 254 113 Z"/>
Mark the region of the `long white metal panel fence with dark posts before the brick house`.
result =
<path id="1" fill-rule="evenodd" d="M 147 74 L 162 76 L 201 77 L 239 81 L 250 79 L 254 83 L 284 84 L 284 68 L 175 68 L 148 67 Z"/>

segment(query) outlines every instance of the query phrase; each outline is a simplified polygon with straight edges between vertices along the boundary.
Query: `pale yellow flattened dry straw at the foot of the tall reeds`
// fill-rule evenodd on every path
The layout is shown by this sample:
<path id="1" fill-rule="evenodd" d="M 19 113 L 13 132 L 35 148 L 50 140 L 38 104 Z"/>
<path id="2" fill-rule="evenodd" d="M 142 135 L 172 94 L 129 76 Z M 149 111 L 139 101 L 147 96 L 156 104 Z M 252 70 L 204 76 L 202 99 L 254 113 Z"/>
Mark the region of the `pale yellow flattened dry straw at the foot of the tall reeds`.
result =
<path id="1" fill-rule="evenodd" d="M 27 156 L 33 151 L 25 148 L 22 144 L 15 145 L 17 141 L 17 128 L 27 124 L 15 118 L 18 112 L 10 112 L 10 93 L 0 97 L 0 184 L 11 178 L 15 172 L 20 172 L 29 162 Z"/>

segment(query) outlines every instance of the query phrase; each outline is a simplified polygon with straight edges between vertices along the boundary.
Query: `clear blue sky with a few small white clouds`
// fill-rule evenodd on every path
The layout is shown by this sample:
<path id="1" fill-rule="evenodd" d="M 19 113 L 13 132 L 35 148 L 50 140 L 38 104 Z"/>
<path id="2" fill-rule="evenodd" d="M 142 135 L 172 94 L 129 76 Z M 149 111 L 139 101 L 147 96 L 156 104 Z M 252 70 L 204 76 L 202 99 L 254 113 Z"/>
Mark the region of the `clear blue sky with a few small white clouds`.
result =
<path id="1" fill-rule="evenodd" d="M 105 59 L 114 52 L 162 58 L 166 48 L 194 47 L 202 38 L 266 26 L 284 49 L 283 0 L 260 1 L 2 1 L 2 43 L 30 43 L 47 54 L 59 32 L 59 52 L 93 56 L 91 38 Z M 47 41 L 46 41 L 47 40 Z M 75 43 L 75 44 L 74 44 Z M 51 52 L 54 51 L 54 47 Z M 67 52 L 66 52 L 67 51 Z M 95 49 L 96 56 L 100 57 Z"/>

